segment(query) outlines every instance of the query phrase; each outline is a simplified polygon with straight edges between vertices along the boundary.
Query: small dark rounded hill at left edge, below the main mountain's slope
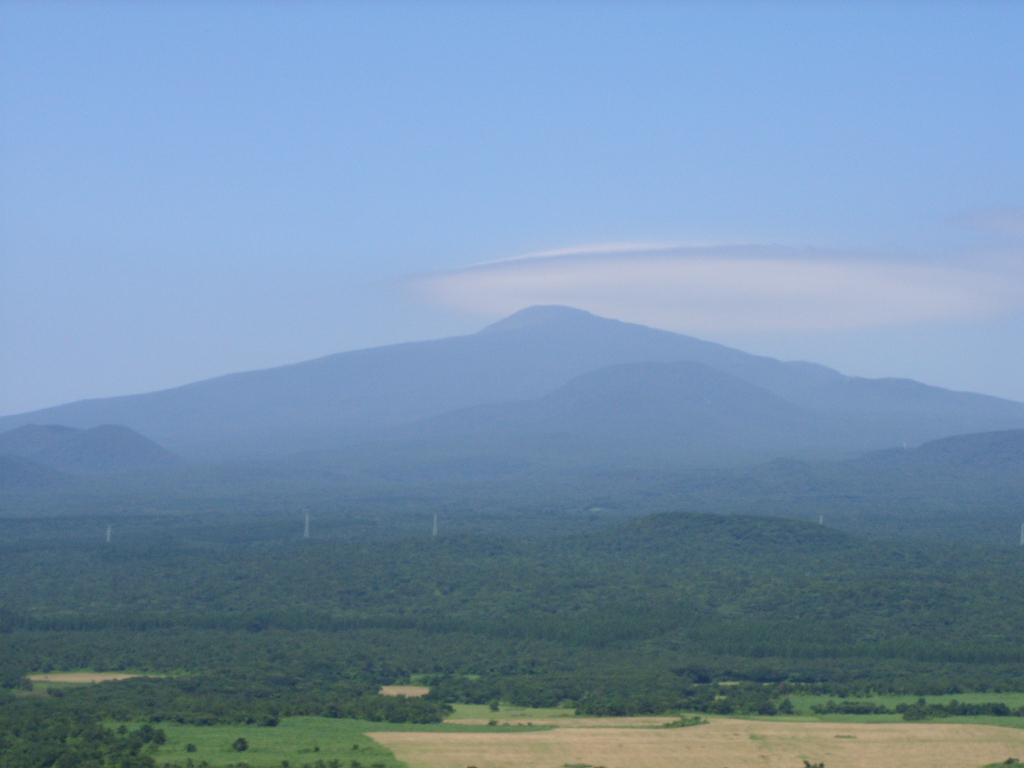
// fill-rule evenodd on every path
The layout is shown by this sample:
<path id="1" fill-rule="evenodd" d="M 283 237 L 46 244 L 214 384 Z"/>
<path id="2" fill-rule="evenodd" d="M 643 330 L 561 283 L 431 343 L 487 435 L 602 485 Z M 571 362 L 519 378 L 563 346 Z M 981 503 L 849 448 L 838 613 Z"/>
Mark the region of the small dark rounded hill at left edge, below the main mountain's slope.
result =
<path id="1" fill-rule="evenodd" d="M 20 457 L 75 474 L 175 466 L 180 459 L 137 432 L 115 424 L 90 429 L 27 424 L 0 433 L 0 456 Z"/>

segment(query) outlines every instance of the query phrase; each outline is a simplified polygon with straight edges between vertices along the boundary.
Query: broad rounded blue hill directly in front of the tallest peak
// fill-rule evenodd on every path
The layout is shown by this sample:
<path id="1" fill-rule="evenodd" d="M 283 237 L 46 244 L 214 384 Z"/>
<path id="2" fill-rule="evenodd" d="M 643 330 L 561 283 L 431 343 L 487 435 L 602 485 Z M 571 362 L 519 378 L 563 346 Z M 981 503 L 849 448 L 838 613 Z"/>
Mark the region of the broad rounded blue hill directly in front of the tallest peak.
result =
<path id="1" fill-rule="evenodd" d="M 857 429 L 699 362 L 639 362 L 584 374 L 537 399 L 427 419 L 319 461 L 335 456 L 392 479 L 678 470 L 827 453 L 855 441 Z"/>

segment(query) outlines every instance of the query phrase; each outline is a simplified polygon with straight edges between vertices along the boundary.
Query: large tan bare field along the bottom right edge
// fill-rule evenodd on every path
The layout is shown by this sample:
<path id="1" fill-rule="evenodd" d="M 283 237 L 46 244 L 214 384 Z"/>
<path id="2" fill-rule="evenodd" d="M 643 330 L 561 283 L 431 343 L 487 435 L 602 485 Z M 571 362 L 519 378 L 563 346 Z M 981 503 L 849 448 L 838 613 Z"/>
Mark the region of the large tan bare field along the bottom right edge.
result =
<path id="1" fill-rule="evenodd" d="M 608 718 L 608 720 L 611 720 Z M 714 720 L 689 728 L 368 733 L 418 768 L 974 768 L 1024 758 L 1024 730 L 934 723 Z"/>

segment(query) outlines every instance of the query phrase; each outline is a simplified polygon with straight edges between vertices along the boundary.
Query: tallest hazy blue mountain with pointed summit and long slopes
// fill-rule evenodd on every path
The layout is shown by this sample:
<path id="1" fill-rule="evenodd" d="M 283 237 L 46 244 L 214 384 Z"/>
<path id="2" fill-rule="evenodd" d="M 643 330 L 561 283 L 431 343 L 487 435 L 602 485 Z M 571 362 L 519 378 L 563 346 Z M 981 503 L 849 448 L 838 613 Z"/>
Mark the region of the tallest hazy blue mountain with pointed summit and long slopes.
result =
<path id="1" fill-rule="evenodd" d="M 568 307 L 531 307 L 479 333 L 343 352 L 174 389 L 83 400 L 0 419 L 90 428 L 124 424 L 193 455 L 232 458 L 329 449 L 476 406 L 541 398 L 627 364 L 690 361 L 805 412 L 858 424 L 833 452 L 1024 427 L 1024 403 L 899 379 L 782 362 Z M 760 395 L 759 395 L 760 396 Z"/>

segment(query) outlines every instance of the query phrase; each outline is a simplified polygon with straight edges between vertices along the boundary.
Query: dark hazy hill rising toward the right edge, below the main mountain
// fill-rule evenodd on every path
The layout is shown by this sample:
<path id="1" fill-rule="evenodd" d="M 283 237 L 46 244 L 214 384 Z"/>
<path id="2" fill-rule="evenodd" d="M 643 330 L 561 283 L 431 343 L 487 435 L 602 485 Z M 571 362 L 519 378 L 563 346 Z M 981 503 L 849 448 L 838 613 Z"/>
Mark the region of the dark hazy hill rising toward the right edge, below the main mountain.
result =
<path id="1" fill-rule="evenodd" d="M 882 536 L 1017 544 L 1024 521 L 1024 429 L 811 463 L 775 460 L 655 480 L 677 508 L 817 519 Z"/>

